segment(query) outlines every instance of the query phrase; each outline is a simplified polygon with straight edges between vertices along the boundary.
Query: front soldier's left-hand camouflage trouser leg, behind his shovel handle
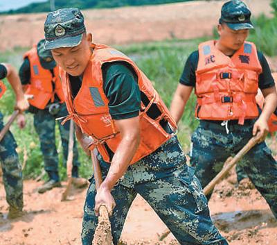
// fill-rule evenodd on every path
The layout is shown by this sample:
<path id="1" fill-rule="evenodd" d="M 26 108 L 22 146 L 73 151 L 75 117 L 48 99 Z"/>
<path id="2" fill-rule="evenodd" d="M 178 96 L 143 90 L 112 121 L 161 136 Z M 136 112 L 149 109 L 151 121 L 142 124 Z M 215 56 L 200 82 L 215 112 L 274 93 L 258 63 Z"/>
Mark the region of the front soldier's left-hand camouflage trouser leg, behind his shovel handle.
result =
<path id="1" fill-rule="evenodd" d="M 107 167 L 107 165 L 106 165 Z M 107 169 L 103 169 L 103 162 L 101 162 L 102 175 L 107 174 Z M 116 201 L 116 207 L 114 208 L 112 216 L 109 218 L 111 221 L 111 233 L 113 236 L 114 245 L 117 245 L 123 229 L 125 219 L 127 217 L 127 212 L 131 206 L 134 198 L 136 197 L 136 192 L 133 188 L 128 188 L 123 185 L 116 185 L 112 191 L 112 196 Z M 94 179 L 91 180 L 89 189 L 87 191 L 87 197 L 84 203 L 84 217 L 82 221 L 82 245 L 91 245 L 93 240 L 93 235 L 98 224 L 98 217 L 96 217 L 94 212 L 95 206 L 95 196 L 96 187 Z"/>

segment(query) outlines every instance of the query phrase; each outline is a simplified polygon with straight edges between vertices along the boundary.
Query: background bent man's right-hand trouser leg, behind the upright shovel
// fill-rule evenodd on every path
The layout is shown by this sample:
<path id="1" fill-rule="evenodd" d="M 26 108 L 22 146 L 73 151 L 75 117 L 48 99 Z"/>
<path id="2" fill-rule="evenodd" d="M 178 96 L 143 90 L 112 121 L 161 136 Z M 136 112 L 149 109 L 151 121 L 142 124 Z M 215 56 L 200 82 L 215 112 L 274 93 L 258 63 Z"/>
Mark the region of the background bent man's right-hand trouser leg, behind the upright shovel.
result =
<path id="1" fill-rule="evenodd" d="M 62 103 L 60 112 L 55 117 L 64 117 L 68 115 L 69 112 L 66 110 L 65 103 Z M 68 150 L 69 150 L 69 128 L 70 128 L 70 121 L 66 121 L 64 125 L 60 124 L 61 121 L 58 121 L 58 126 L 60 129 L 60 135 L 62 139 L 62 149 L 63 149 L 63 157 L 64 157 L 64 166 L 66 164 Z M 77 143 L 75 139 L 75 133 L 74 133 L 74 146 L 73 146 L 73 166 L 79 167 L 80 162 L 78 160 L 78 149 L 77 149 Z M 66 167 L 66 166 L 65 166 Z"/>

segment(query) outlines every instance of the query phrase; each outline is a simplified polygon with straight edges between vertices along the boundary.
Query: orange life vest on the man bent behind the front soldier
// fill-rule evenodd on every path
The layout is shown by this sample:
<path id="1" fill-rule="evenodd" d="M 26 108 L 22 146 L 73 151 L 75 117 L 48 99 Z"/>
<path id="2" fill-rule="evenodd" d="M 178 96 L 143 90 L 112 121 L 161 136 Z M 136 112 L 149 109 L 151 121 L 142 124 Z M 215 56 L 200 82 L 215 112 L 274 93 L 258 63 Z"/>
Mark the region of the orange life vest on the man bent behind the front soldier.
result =
<path id="1" fill-rule="evenodd" d="M 60 103 L 64 103 L 64 94 L 62 93 L 62 83 L 59 78 L 59 68 L 56 66 L 54 76 L 51 71 L 44 69 L 39 62 L 37 55 L 37 47 L 24 54 L 24 58 L 30 61 L 30 85 L 24 86 L 25 94 L 33 94 L 33 99 L 29 99 L 29 103 L 36 108 L 43 110 L 48 102 L 54 101 L 55 94 L 60 99 Z M 53 90 L 53 85 L 55 90 Z"/>

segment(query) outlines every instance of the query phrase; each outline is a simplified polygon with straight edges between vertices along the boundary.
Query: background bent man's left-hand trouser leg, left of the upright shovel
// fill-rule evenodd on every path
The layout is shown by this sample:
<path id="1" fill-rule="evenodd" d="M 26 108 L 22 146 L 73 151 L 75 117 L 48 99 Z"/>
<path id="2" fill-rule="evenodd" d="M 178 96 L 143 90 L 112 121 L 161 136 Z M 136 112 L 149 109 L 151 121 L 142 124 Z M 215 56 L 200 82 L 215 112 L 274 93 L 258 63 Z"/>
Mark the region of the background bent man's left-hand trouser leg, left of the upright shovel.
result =
<path id="1" fill-rule="evenodd" d="M 39 136 L 40 149 L 44 158 L 44 169 L 58 172 L 58 156 L 55 146 L 55 118 L 48 110 L 39 110 L 34 115 L 34 126 Z"/>

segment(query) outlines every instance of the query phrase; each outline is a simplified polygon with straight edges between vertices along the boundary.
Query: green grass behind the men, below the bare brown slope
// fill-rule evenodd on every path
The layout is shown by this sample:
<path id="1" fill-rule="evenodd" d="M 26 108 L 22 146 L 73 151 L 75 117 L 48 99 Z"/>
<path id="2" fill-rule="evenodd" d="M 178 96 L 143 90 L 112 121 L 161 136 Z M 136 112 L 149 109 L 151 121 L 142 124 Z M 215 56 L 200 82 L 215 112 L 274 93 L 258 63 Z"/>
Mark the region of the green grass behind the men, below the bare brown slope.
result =
<path id="1" fill-rule="evenodd" d="M 258 49 L 268 56 L 277 55 L 277 18 L 267 19 L 259 17 L 254 21 L 256 31 L 252 31 L 249 40 L 256 42 Z M 197 49 L 197 44 L 207 38 L 197 40 L 168 40 L 165 42 L 150 42 L 143 44 L 131 44 L 124 47 L 117 47 L 128 56 L 131 56 L 153 81 L 154 87 L 165 101 L 170 105 L 172 95 L 177 87 L 184 62 L 188 55 Z M 15 49 L 0 53 L 0 62 L 10 62 L 15 67 L 21 65 L 21 57 L 26 49 Z M 14 105 L 14 96 L 11 90 L 8 90 L 0 100 L 1 112 L 4 115 L 10 115 Z M 190 133 L 196 128 L 197 120 L 194 118 L 195 96 L 191 96 L 188 106 L 184 112 L 184 117 L 179 124 L 179 140 L 187 153 L 190 144 Z M 15 135 L 18 151 L 21 160 L 24 158 L 24 151 L 27 153 L 28 160 L 24 168 L 24 177 L 33 178 L 39 175 L 43 169 L 42 153 L 39 150 L 39 140 L 33 127 L 33 117 L 26 115 L 28 122 L 24 130 L 19 130 L 16 124 L 12 125 L 12 133 Z M 59 135 L 56 127 L 57 135 Z M 56 138 L 57 150 L 62 151 L 60 136 Z M 91 175 L 91 162 L 80 149 L 80 161 L 82 167 L 80 174 L 85 177 Z M 64 178 L 66 171 L 62 167 L 62 154 L 60 154 L 60 176 Z"/>

